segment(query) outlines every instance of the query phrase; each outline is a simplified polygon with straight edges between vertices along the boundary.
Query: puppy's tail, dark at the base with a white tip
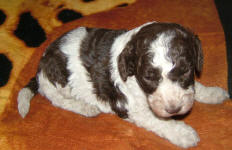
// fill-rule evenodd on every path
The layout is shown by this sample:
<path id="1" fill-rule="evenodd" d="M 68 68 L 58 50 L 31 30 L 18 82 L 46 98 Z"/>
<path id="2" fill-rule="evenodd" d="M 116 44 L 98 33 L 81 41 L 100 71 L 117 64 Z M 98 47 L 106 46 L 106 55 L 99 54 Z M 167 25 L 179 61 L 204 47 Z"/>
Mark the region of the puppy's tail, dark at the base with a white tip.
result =
<path id="1" fill-rule="evenodd" d="M 20 90 L 17 101 L 18 111 L 22 118 L 29 112 L 30 101 L 38 93 L 38 87 L 38 82 L 34 77 L 23 89 Z"/>

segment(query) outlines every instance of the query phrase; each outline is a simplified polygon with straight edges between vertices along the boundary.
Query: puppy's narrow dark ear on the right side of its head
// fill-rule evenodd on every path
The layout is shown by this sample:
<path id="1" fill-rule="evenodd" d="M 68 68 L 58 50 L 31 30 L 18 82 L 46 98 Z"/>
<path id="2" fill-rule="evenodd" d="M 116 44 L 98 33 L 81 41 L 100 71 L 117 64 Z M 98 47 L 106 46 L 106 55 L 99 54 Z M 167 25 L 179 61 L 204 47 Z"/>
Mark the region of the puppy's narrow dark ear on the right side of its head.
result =
<path id="1" fill-rule="evenodd" d="M 195 55 L 195 73 L 199 77 L 203 68 L 203 52 L 201 41 L 197 35 L 194 35 L 194 55 Z"/>

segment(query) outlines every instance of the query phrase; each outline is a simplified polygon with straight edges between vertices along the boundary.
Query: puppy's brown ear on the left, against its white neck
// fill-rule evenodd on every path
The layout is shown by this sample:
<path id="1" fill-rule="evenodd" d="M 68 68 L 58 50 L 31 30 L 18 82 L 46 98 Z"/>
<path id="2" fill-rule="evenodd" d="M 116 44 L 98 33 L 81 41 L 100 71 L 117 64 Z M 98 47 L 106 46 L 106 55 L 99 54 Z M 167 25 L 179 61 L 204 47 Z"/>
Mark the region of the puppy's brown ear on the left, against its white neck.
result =
<path id="1" fill-rule="evenodd" d="M 118 70 L 123 81 L 135 74 L 135 67 L 134 46 L 128 43 L 118 57 Z"/>

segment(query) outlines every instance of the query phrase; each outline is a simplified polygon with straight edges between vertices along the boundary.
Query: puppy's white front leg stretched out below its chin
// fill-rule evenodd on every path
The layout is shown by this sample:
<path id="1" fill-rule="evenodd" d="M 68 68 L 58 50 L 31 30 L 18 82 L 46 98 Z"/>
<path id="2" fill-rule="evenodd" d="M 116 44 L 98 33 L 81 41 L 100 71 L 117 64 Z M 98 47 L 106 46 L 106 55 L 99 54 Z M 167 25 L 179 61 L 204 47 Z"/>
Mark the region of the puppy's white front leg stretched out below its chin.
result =
<path id="1" fill-rule="evenodd" d="M 183 148 L 196 146 L 200 141 L 196 131 L 192 127 L 182 121 L 157 118 L 149 108 L 136 112 L 129 111 L 129 119 L 127 121 L 152 131 Z"/>

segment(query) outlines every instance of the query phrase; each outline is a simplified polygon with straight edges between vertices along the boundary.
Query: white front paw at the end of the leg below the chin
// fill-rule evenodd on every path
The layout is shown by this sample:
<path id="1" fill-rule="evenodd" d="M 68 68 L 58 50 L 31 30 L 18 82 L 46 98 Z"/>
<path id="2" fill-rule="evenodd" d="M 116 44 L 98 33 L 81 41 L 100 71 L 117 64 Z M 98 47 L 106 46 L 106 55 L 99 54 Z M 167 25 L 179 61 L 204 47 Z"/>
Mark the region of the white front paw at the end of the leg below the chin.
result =
<path id="1" fill-rule="evenodd" d="M 171 143 L 183 148 L 196 146 L 200 141 L 196 131 L 183 122 L 176 122 L 175 125 L 173 125 L 172 130 L 169 132 L 170 134 L 167 139 Z"/>

